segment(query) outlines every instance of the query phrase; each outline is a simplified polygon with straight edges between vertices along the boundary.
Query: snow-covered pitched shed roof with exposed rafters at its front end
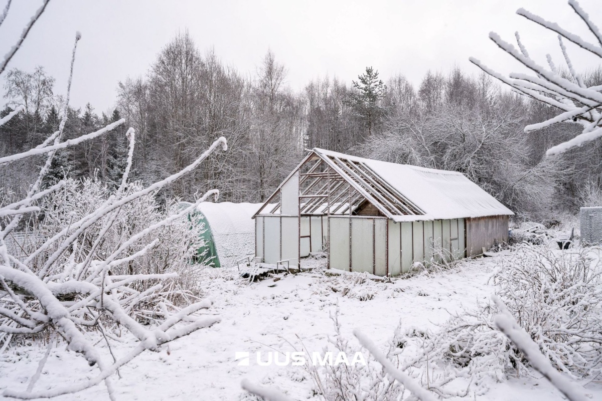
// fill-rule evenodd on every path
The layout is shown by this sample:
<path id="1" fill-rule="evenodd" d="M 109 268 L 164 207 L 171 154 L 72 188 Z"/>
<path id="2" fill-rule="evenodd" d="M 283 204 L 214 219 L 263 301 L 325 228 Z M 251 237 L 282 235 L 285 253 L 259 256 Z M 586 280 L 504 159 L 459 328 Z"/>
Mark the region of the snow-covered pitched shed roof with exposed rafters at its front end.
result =
<path id="1" fill-rule="evenodd" d="M 314 148 L 312 154 L 312 158 L 320 159 L 331 173 L 312 173 L 310 169 L 302 176 L 320 179 L 321 174 L 323 179 L 328 179 L 332 176 L 327 174 L 336 173 L 358 192 L 359 197 L 368 200 L 382 215 L 394 221 L 514 215 L 480 186 L 456 171 L 381 162 L 320 148 Z M 312 158 L 306 158 L 297 170 Z M 311 196 L 303 196 L 311 204 Z M 304 212 L 302 207 L 302 213 L 315 214 L 323 209 L 318 203 L 326 199 L 319 196 L 316 195 L 314 209 L 308 208 Z"/>

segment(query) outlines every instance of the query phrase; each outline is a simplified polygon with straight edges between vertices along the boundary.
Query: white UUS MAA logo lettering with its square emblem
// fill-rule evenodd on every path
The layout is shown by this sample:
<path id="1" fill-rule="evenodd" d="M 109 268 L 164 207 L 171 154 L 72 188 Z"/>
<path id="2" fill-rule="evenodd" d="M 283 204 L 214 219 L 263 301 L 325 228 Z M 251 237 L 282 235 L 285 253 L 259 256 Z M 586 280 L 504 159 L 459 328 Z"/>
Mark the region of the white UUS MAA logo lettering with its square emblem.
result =
<path id="1" fill-rule="evenodd" d="M 312 352 L 311 356 L 305 352 L 278 352 L 264 351 L 256 352 L 255 358 L 251 358 L 250 352 L 241 351 L 235 352 L 234 360 L 238 361 L 238 366 L 249 366 L 250 360 L 255 360 L 259 366 L 302 366 L 310 363 L 314 366 L 334 366 L 334 365 L 365 365 L 366 360 L 364 354 L 356 352 L 349 357 L 345 352 Z"/>

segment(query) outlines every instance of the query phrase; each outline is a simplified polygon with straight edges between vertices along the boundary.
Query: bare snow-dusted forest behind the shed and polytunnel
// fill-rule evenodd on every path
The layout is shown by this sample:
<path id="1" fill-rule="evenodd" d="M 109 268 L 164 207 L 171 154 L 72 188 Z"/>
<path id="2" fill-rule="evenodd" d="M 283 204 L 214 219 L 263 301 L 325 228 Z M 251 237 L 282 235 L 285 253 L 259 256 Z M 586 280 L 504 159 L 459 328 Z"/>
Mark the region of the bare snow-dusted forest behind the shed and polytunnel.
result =
<path id="1" fill-rule="evenodd" d="M 320 147 L 460 171 L 520 219 L 541 221 L 602 201 L 602 141 L 544 157 L 547 148 L 582 127 L 561 123 L 524 133 L 527 124 L 559 111 L 501 87 L 485 73 L 429 71 L 414 87 L 403 75 L 381 78 L 367 67 L 357 81 L 326 76 L 300 91 L 287 85 L 286 76 L 287 68 L 271 51 L 256 72 L 244 75 L 213 50 L 199 51 L 184 32 L 160 51 L 146 75 L 119 82 L 114 110 L 98 114 L 89 103 L 69 108 L 63 137 L 76 138 L 125 118 L 137 133 L 130 177 L 143 183 L 181 170 L 216 138 L 228 138 L 228 152 L 209 156 L 163 190 L 163 199 L 192 200 L 218 188 L 220 201 L 265 201 L 306 148 Z M 602 84 L 600 68 L 583 76 L 588 87 Z M 64 102 L 43 67 L 10 70 L 6 82 L 7 106 L 0 117 L 19 105 L 25 110 L 0 127 L 0 157 L 36 147 L 55 132 Z M 58 152 L 45 185 L 73 177 L 96 178 L 114 188 L 126 153 L 125 129 L 118 127 Z M 0 167 L 0 198 L 27 191 L 40 167 L 32 160 L 18 162 L 18 168 Z"/>

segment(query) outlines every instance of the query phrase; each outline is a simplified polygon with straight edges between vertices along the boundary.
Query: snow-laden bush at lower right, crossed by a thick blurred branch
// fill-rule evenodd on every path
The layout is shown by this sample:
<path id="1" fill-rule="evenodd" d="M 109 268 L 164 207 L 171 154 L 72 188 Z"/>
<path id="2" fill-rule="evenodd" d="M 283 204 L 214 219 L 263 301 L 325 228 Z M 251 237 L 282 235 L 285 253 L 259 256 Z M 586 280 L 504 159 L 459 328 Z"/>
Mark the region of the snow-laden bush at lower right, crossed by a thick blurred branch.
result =
<path id="1" fill-rule="evenodd" d="M 542 354 L 572 378 L 595 379 L 602 368 L 600 257 L 599 248 L 552 251 L 521 245 L 512 256 L 498 259 L 491 278 L 498 298 Z M 445 372 L 431 379 L 432 390 L 458 395 L 446 385 L 462 378 L 482 394 L 488 379 L 530 374 L 523 352 L 495 325 L 498 313 L 494 304 L 482 305 L 452 316 L 438 331 L 406 334 L 419 355 L 415 368 L 424 371 L 427 361 L 438 361 Z"/>

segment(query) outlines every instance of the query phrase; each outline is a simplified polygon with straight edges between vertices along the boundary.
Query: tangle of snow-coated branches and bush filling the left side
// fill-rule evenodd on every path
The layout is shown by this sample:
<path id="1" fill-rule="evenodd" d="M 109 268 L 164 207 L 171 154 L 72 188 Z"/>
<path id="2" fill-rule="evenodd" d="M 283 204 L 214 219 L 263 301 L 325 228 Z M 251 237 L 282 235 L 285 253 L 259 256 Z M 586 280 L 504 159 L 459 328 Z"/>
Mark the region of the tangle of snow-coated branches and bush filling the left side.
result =
<path id="1" fill-rule="evenodd" d="M 0 73 L 47 4 L 48 0 L 0 62 Z M 152 194 L 193 171 L 217 147 L 226 150 L 225 138 L 216 139 L 178 173 L 143 188 L 128 183 L 135 144 L 134 130 L 129 129 L 126 167 L 115 191 L 107 192 L 93 181 L 84 182 L 81 190 L 64 180 L 43 188 L 57 150 L 105 135 L 125 123 L 119 120 L 96 132 L 62 140 L 80 39 L 77 32 L 58 131 L 33 149 L 0 158 L 0 165 L 9 168 L 15 168 L 19 161 L 31 161 L 36 155 L 45 158 L 25 197 L 2 198 L 0 205 L 0 352 L 13 337 L 36 334 L 49 337 L 46 354 L 26 387 L 8 388 L 2 394 L 16 399 L 51 398 L 104 383 L 110 399 L 114 400 L 111 378 L 119 372 L 119 367 L 145 350 L 158 351 L 163 344 L 220 320 L 202 314 L 211 307 L 211 301 L 189 297 L 182 302 L 182 296 L 193 294 L 185 292 L 182 281 L 176 280 L 191 245 L 178 244 L 178 240 L 190 240 L 189 233 L 179 237 L 183 232 L 181 222 L 201 201 L 209 195 L 217 196 L 218 191 L 208 191 L 190 207 L 167 216 L 154 209 Z M 8 120 L 10 116 L 0 124 Z M 9 249 L 6 239 L 32 217 L 38 219 L 34 227 L 40 229 L 40 240 L 25 255 L 16 254 L 14 247 Z M 90 335 L 91 331 L 98 335 Z M 116 355 L 111 349 L 111 341 L 122 341 L 120 335 L 134 338 L 125 355 Z M 98 337 L 107 345 L 110 357 L 98 349 Z M 34 390 L 57 338 L 90 366 L 98 367 L 98 375 L 87 375 L 79 381 L 66 380 L 69 373 L 78 373 L 66 367 L 55 387 Z"/>

